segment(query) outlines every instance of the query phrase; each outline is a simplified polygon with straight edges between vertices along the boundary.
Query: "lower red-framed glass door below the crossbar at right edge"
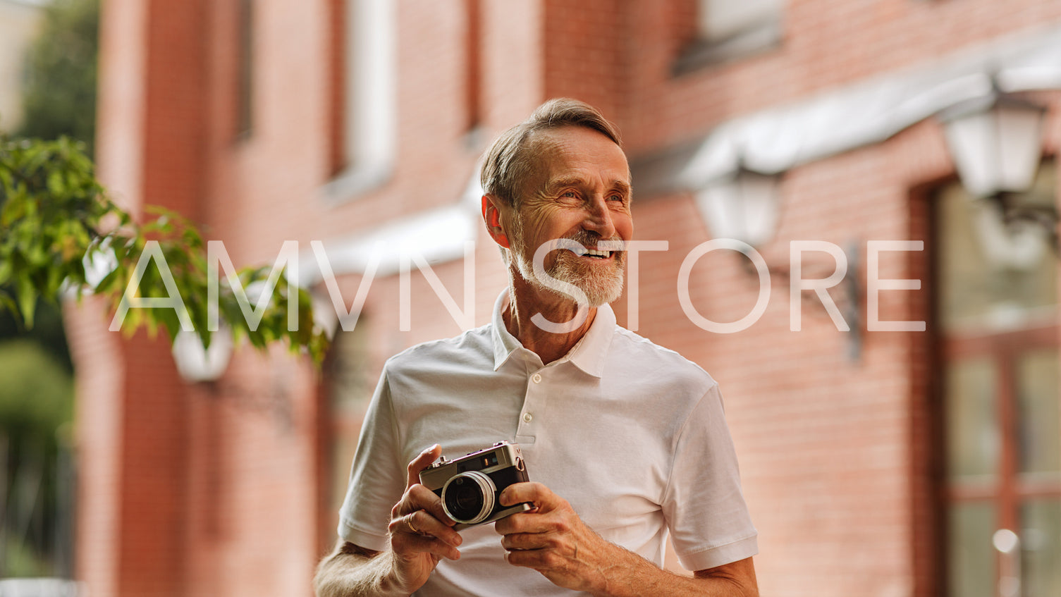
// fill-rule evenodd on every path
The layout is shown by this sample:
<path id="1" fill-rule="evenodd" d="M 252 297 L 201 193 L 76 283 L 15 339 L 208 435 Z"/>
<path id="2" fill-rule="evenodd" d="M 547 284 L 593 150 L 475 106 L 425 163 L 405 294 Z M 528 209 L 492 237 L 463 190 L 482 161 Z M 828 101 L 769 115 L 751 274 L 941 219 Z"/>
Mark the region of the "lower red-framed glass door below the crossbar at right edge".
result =
<path id="1" fill-rule="evenodd" d="M 942 497 L 954 597 L 1061 595 L 1057 333 L 955 339 L 946 351 Z"/>

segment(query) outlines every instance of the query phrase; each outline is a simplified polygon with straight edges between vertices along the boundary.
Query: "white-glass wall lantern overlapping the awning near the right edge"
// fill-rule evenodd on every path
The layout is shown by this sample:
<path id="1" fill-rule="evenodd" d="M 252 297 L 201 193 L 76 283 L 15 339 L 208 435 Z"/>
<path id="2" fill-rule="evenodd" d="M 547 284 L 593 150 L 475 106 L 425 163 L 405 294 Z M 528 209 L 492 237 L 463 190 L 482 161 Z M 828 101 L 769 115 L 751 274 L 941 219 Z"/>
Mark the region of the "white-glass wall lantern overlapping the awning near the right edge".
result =
<path id="1" fill-rule="evenodd" d="M 951 157 L 970 193 L 994 197 L 1031 188 L 1042 155 L 1045 112 L 997 89 L 940 112 Z"/>

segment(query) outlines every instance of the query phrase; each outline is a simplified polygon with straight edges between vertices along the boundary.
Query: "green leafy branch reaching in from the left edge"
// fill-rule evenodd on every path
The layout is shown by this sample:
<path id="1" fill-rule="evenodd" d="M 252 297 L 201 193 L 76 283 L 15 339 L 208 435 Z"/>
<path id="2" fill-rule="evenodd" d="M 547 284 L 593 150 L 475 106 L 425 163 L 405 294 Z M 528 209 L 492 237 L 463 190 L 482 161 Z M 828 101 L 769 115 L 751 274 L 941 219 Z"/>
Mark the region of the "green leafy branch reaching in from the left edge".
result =
<path id="1" fill-rule="evenodd" d="M 150 211 L 154 217 L 138 225 L 108 199 L 81 143 L 65 138 L 0 140 L 0 288 L 14 288 L 14 295 L 0 291 L 0 309 L 11 310 L 32 327 L 38 297 L 56 301 L 60 293 L 80 297 L 87 291 L 111 297 L 117 310 L 123 296 L 127 302 L 172 298 L 175 283 L 195 333 L 208 347 L 211 305 L 202 234 L 177 213 Z M 158 243 L 161 259 L 151 260 L 131 287 L 150 241 Z M 105 271 L 97 276 L 93 268 L 100 265 Z M 238 277 L 243 288 L 256 288 L 271 271 L 272 266 L 244 267 Z M 281 271 L 263 299 L 267 306 L 261 320 L 251 324 L 237 293 L 222 277 L 218 309 L 236 339 L 245 337 L 257 348 L 286 340 L 293 351 L 306 352 L 319 363 L 328 340 L 313 326 L 309 293 L 289 291 Z M 289 330 L 288 310 L 293 303 L 298 305 L 298 326 Z M 181 329 L 172 308 L 128 309 L 122 331 L 132 334 L 141 326 L 151 333 L 164 329 L 171 341 Z"/>

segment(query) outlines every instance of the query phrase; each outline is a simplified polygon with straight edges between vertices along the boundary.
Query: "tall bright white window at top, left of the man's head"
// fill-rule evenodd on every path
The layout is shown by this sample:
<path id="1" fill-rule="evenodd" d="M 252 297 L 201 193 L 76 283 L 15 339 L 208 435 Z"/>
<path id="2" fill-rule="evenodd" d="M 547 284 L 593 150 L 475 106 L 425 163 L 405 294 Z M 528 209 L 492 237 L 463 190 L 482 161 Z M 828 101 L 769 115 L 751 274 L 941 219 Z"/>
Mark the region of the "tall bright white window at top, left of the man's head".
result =
<path id="1" fill-rule="evenodd" d="M 345 199 L 382 183 L 396 143 L 395 3 L 332 0 L 332 170 L 329 195 Z"/>

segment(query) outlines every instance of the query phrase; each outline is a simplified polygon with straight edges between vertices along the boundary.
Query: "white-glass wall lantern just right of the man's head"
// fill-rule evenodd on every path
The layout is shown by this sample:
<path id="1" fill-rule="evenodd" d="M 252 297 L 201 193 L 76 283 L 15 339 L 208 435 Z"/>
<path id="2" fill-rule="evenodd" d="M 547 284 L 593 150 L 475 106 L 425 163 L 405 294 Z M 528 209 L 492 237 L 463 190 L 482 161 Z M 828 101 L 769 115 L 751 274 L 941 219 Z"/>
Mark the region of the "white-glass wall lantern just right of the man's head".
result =
<path id="1" fill-rule="evenodd" d="M 715 239 L 735 239 L 758 247 L 778 224 L 779 176 L 738 166 L 733 174 L 696 192 L 696 206 Z"/>

